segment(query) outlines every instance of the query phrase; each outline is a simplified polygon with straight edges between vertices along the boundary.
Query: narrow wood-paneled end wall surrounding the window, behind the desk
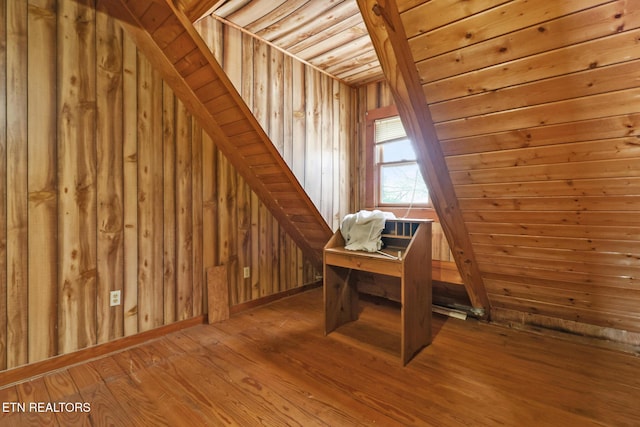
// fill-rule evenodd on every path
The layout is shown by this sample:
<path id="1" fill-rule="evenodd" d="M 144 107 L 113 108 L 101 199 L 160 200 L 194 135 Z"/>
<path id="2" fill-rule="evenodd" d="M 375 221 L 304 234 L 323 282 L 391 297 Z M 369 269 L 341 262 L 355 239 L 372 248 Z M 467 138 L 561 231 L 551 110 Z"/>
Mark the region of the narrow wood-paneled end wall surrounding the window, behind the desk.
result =
<path id="1" fill-rule="evenodd" d="M 375 110 L 377 108 L 394 105 L 393 95 L 388 84 L 384 81 L 368 83 L 364 86 L 360 86 L 357 89 L 358 97 L 358 144 L 354 144 L 352 148 L 351 168 L 353 170 L 353 176 L 357 177 L 353 185 L 355 198 L 358 200 L 357 209 L 370 209 L 371 206 L 366 206 L 365 202 L 365 182 L 366 182 L 366 161 L 365 161 L 365 126 L 366 126 L 366 112 L 369 110 Z M 435 211 L 426 214 L 427 217 L 435 219 L 436 222 L 432 228 L 432 258 L 434 260 L 453 262 L 453 256 L 451 249 L 447 242 L 447 238 L 442 232 L 442 227 L 438 222 Z M 408 213 L 410 218 L 420 218 L 425 216 L 425 213 L 418 213 L 412 211 Z"/>

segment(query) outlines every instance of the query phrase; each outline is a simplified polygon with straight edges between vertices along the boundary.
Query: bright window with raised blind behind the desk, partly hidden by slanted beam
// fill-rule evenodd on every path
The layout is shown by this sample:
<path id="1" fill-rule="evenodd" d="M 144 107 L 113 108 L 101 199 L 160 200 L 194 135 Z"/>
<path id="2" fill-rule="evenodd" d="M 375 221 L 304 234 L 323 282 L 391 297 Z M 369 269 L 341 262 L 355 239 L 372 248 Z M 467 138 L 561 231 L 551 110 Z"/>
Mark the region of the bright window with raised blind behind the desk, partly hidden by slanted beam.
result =
<path id="1" fill-rule="evenodd" d="M 372 145 L 376 205 L 429 205 L 429 190 L 400 117 L 374 120 Z"/>

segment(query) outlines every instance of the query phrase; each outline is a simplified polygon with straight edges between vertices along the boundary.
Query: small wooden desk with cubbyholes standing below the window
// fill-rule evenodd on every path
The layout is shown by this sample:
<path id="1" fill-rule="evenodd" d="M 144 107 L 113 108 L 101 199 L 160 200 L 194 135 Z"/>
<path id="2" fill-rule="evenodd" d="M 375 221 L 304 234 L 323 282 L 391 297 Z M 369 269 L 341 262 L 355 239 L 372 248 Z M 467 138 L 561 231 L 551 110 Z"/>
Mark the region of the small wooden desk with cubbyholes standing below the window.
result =
<path id="1" fill-rule="evenodd" d="M 340 230 L 324 247 L 325 335 L 358 319 L 358 290 L 353 270 L 400 278 L 401 348 L 406 365 L 431 343 L 431 222 L 387 220 L 382 233 L 383 251 L 394 259 L 371 252 L 344 249 Z"/>

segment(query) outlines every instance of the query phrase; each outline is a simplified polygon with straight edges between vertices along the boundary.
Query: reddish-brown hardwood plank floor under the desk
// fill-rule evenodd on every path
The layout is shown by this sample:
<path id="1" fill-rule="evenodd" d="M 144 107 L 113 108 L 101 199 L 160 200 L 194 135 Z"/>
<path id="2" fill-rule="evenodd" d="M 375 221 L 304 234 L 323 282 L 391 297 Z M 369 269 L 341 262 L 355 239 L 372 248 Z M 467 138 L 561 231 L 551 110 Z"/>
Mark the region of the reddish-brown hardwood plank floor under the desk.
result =
<path id="1" fill-rule="evenodd" d="M 0 389 L 0 425 L 640 424 L 633 354 L 434 315 L 403 368 L 399 320 L 368 301 L 324 337 L 316 289 Z"/>

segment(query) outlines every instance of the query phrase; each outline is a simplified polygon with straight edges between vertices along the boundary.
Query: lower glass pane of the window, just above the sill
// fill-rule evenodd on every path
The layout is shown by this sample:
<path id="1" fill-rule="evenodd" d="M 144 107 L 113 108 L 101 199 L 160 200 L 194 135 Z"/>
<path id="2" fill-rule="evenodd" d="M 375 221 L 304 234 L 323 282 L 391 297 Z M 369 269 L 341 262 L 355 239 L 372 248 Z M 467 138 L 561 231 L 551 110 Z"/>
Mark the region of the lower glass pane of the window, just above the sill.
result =
<path id="1" fill-rule="evenodd" d="M 418 170 L 418 165 L 394 165 L 380 168 L 382 188 L 380 202 L 383 204 L 426 204 L 429 191 Z"/>

